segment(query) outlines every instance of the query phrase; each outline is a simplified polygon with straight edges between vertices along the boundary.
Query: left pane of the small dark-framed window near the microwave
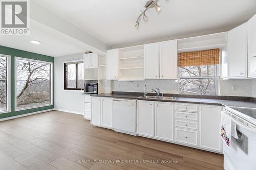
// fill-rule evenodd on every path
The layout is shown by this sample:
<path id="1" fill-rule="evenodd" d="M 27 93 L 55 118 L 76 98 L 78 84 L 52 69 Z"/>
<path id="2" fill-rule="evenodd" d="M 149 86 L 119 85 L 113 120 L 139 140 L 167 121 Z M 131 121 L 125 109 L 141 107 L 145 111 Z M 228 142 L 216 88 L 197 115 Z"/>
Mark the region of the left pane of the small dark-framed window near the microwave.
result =
<path id="1" fill-rule="evenodd" d="M 66 88 L 76 88 L 76 64 L 66 64 Z"/>

